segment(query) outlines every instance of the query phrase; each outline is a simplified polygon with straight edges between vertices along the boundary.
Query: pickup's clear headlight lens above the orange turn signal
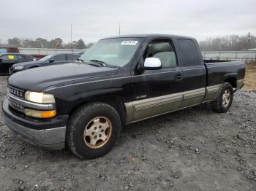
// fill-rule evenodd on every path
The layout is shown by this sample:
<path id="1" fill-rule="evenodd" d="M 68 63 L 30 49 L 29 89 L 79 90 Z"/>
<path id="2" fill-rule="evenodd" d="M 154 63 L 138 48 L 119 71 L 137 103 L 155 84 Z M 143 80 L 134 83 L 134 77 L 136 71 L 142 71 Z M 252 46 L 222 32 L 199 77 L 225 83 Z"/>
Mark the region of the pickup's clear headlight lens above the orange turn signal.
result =
<path id="1" fill-rule="evenodd" d="M 32 101 L 40 104 L 54 104 L 55 98 L 50 93 L 38 93 L 38 92 L 31 92 L 26 91 L 25 99 L 27 101 Z"/>

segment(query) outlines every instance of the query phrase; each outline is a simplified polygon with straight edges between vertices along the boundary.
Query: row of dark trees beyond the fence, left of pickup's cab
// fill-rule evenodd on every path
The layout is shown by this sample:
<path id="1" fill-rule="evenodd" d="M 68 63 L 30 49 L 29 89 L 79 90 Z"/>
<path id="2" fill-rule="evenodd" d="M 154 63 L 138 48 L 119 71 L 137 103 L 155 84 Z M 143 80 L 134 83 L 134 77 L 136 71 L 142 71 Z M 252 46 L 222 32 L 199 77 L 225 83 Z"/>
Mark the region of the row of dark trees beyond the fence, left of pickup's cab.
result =
<path id="1" fill-rule="evenodd" d="M 47 39 L 37 38 L 37 39 L 19 39 L 17 37 L 8 39 L 7 44 L 0 44 L 0 46 L 10 46 L 10 47 L 31 47 L 31 48 L 63 48 L 63 49 L 86 49 L 93 45 L 93 43 L 88 43 L 83 41 L 83 39 L 78 39 L 78 41 L 73 41 L 72 43 L 64 43 L 61 38 L 55 38 L 50 41 Z"/>

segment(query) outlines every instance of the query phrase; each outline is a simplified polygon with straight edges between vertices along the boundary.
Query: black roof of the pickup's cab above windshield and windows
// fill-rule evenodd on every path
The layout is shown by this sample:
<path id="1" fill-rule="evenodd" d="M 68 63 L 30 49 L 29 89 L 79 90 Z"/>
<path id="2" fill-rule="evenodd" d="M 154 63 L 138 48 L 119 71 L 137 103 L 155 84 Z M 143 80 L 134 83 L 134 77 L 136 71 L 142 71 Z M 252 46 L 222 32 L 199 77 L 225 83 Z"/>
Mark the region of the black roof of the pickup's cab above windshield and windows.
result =
<path id="1" fill-rule="evenodd" d="M 189 36 L 178 36 L 173 34 L 125 34 L 125 35 L 118 35 L 118 36 L 109 36 L 103 39 L 117 39 L 117 38 L 176 38 L 176 39 L 194 39 Z"/>

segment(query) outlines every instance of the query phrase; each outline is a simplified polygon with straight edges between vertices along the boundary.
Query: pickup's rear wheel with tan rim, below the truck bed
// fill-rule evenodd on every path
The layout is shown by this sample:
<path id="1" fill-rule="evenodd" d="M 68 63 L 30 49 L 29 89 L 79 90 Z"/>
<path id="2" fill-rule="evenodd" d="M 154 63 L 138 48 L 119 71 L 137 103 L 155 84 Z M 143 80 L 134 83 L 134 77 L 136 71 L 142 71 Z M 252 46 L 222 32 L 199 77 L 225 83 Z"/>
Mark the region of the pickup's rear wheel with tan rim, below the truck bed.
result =
<path id="1" fill-rule="evenodd" d="M 229 95 L 229 96 L 228 96 Z M 230 109 L 233 102 L 233 86 L 225 82 L 222 90 L 215 101 L 211 101 L 211 109 L 214 112 L 225 113 Z"/>

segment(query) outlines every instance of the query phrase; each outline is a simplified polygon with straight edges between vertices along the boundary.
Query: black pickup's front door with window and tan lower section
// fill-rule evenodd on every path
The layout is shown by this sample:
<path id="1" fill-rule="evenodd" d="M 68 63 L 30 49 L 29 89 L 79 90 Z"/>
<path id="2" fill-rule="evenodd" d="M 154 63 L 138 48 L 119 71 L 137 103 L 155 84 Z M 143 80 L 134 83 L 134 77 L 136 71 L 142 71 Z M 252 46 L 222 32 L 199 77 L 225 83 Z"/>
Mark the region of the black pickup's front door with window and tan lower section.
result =
<path id="1" fill-rule="evenodd" d="M 182 71 L 171 39 L 149 42 L 139 64 L 143 65 L 145 59 L 151 57 L 159 58 L 162 69 L 145 70 L 132 75 L 131 121 L 171 112 L 181 106 Z"/>

